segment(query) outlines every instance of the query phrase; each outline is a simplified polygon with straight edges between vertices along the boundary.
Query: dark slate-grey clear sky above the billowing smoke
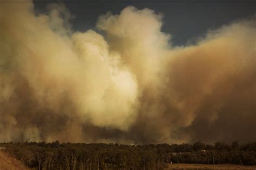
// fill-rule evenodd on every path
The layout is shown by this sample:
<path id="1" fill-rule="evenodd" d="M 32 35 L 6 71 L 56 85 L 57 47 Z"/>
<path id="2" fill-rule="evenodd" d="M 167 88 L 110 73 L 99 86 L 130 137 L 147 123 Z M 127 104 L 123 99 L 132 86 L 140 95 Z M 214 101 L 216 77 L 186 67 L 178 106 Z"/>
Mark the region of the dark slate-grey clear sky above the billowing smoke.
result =
<path id="1" fill-rule="evenodd" d="M 35 0 L 35 8 L 44 11 L 53 1 Z M 55 1 L 58 2 L 58 1 Z M 164 15 L 162 31 L 172 34 L 174 45 L 195 42 L 208 30 L 254 15 L 255 1 L 60 1 L 75 16 L 71 20 L 76 31 L 97 30 L 95 23 L 100 15 L 111 11 L 119 13 L 126 6 L 149 8 Z"/>

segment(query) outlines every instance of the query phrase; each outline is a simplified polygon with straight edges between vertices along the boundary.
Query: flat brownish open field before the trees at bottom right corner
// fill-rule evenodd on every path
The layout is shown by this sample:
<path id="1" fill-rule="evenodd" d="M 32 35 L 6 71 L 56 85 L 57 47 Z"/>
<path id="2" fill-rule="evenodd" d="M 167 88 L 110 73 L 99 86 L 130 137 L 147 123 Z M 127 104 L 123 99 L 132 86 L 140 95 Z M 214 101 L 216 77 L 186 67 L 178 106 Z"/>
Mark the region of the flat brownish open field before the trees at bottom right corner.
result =
<path id="1" fill-rule="evenodd" d="M 229 169 L 229 170 L 238 170 L 238 169 L 247 169 L 255 170 L 256 166 L 243 166 L 243 165 L 231 165 L 231 164 L 220 164 L 220 165 L 205 165 L 205 164 L 169 164 L 166 169 Z"/>

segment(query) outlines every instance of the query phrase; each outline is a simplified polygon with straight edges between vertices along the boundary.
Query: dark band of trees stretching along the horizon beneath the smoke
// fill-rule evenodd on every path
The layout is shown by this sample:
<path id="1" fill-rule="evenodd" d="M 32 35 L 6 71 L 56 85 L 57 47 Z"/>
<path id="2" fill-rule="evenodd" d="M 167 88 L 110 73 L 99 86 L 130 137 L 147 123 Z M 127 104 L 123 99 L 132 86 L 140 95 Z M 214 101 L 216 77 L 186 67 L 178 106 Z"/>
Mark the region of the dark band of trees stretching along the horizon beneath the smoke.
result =
<path id="1" fill-rule="evenodd" d="M 170 163 L 256 165 L 256 143 L 84 144 L 0 143 L 26 166 L 43 169 L 163 169 Z"/>

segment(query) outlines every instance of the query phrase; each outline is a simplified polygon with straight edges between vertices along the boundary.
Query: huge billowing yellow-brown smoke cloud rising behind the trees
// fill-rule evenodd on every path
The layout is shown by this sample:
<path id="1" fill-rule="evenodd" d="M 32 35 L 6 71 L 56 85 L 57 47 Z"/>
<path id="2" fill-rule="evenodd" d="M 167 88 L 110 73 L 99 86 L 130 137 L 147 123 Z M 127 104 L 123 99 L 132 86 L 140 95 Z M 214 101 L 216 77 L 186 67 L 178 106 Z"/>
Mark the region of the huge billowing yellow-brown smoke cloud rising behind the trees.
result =
<path id="1" fill-rule="evenodd" d="M 0 5 L 0 142 L 255 141 L 255 16 L 172 46 L 127 6 L 74 32 L 64 5 Z"/>

